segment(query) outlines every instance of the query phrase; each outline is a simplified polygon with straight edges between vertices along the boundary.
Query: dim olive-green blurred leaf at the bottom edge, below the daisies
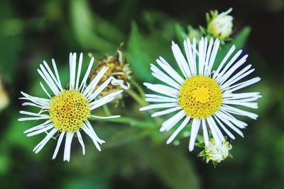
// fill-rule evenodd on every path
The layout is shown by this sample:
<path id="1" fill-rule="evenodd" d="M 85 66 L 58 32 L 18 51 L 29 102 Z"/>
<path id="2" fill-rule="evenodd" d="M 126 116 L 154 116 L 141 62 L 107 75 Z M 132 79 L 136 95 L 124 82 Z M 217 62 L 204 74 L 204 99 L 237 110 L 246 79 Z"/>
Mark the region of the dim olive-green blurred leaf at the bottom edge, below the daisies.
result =
<path id="1" fill-rule="evenodd" d="M 200 188 L 195 169 L 185 151 L 173 146 L 144 147 L 141 158 L 170 188 Z"/>

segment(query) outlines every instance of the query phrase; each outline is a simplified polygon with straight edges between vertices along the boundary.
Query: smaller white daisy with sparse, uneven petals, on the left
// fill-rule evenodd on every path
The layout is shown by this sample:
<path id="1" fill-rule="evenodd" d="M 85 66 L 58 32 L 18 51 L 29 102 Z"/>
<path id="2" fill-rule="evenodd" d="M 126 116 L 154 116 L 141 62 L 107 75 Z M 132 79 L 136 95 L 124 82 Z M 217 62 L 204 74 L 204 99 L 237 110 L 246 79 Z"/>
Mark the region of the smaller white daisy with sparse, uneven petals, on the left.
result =
<path id="1" fill-rule="evenodd" d="M 21 92 L 23 95 L 23 100 L 27 102 L 23 105 L 31 105 L 36 108 L 40 108 L 38 113 L 31 113 L 27 111 L 20 111 L 23 115 L 29 115 L 28 118 L 20 118 L 19 121 L 27 120 L 44 120 L 43 123 L 31 127 L 31 129 L 26 130 L 24 133 L 28 137 L 31 137 L 36 134 L 45 132 L 47 135 L 45 138 L 33 149 L 35 153 L 38 153 L 45 144 L 52 138 L 58 137 L 58 142 L 55 147 L 53 154 L 53 159 L 58 154 L 60 144 L 62 143 L 63 138 L 65 137 L 65 147 L 64 147 L 64 161 L 70 161 L 70 149 L 73 137 L 77 136 L 78 141 L 82 146 L 82 153 L 85 153 L 84 142 L 82 139 L 81 132 L 84 131 L 94 142 L 94 145 L 99 151 L 101 151 L 100 144 L 104 143 L 104 140 L 99 139 L 96 132 L 92 128 L 92 125 L 89 122 L 90 117 L 94 118 L 119 118 L 119 115 L 102 117 L 92 115 L 92 111 L 100 106 L 109 103 L 114 100 L 114 98 L 119 95 L 121 91 L 116 91 L 110 93 L 103 98 L 97 99 L 99 93 L 101 93 L 104 88 L 106 88 L 111 82 L 112 77 L 109 77 L 101 86 L 97 86 L 104 73 L 107 71 L 108 67 L 104 67 L 97 76 L 87 84 L 87 78 L 89 72 L 92 69 L 94 63 L 94 57 L 92 57 L 89 62 L 89 67 L 87 68 L 86 73 L 82 81 L 80 82 L 80 74 L 82 69 L 82 53 L 79 57 L 79 64 L 76 64 L 76 53 L 70 53 L 70 83 L 67 85 L 67 89 L 62 87 L 60 82 L 60 76 L 58 74 L 58 69 L 56 67 L 54 59 L 53 62 L 53 71 L 50 69 L 48 64 L 43 61 L 43 64 L 40 64 L 40 69 L 38 73 L 43 78 L 45 83 L 48 85 L 50 90 L 53 92 L 53 95 L 50 95 L 45 89 L 43 84 L 40 82 L 41 88 L 45 91 L 48 98 L 39 98 L 35 96 L 30 96 L 27 93 Z M 77 73 L 76 73 L 77 69 Z M 96 90 L 94 90 L 96 88 Z"/>

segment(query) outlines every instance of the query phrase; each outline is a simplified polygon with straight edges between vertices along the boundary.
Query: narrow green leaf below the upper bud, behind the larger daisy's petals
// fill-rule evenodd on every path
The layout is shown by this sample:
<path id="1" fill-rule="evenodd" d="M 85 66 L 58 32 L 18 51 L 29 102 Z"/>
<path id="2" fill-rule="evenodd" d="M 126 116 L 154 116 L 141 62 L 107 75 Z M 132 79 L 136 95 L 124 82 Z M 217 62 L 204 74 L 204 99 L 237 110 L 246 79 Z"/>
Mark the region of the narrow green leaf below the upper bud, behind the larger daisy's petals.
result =
<path id="1" fill-rule="evenodd" d="M 246 40 L 249 38 L 250 33 L 251 28 L 249 26 L 246 26 L 238 35 L 234 37 L 234 40 L 232 42 L 226 43 L 224 48 L 219 48 L 219 52 L 214 61 L 213 70 L 219 67 L 219 64 L 221 64 L 222 59 L 224 59 L 226 53 L 229 52 L 231 46 L 236 46 L 236 50 L 234 52 L 237 52 L 238 50 L 244 48 L 244 45 L 246 45 Z"/>

